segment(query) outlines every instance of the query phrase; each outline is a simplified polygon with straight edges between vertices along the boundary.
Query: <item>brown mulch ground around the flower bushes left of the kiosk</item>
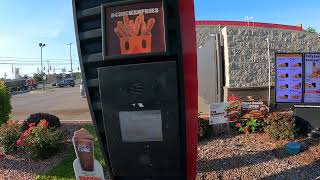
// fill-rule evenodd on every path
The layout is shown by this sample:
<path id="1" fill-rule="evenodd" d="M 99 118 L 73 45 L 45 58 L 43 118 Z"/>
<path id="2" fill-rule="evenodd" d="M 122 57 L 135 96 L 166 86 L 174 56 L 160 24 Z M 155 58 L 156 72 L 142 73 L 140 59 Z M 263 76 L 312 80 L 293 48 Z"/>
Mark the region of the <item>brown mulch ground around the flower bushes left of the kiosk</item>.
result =
<path id="1" fill-rule="evenodd" d="M 61 130 L 64 132 L 67 141 L 71 142 L 73 132 L 79 129 L 79 125 L 63 125 Z M 35 176 L 47 172 L 55 167 L 64 158 L 63 151 L 57 155 L 41 161 L 33 161 L 23 157 L 23 154 L 0 156 L 0 179 L 2 180 L 30 180 Z"/>

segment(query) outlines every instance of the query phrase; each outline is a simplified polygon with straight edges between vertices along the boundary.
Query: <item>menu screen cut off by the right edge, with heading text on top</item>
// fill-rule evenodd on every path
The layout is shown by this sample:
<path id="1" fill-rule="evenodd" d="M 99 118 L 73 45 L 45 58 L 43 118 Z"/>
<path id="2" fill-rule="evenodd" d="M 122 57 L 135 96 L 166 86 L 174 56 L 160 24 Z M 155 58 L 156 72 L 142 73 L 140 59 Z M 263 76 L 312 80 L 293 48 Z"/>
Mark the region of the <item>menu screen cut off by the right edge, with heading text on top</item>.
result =
<path id="1" fill-rule="evenodd" d="M 320 54 L 305 54 L 304 102 L 320 103 Z"/>

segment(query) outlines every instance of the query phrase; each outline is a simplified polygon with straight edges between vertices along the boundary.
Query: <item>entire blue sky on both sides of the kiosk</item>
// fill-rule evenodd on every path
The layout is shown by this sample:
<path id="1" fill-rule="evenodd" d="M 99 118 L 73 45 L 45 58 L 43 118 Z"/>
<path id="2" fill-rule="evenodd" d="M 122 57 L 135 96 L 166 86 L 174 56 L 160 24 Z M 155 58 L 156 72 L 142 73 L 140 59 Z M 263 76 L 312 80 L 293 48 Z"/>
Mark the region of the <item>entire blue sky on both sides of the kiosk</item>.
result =
<path id="1" fill-rule="evenodd" d="M 244 21 L 313 27 L 320 32 L 319 0 L 194 0 L 196 20 Z M 12 77 L 14 68 L 31 75 L 40 68 L 39 42 L 44 64 L 59 73 L 70 70 L 69 47 L 72 42 L 74 70 L 78 68 L 71 0 L 0 1 L 0 77 Z"/>

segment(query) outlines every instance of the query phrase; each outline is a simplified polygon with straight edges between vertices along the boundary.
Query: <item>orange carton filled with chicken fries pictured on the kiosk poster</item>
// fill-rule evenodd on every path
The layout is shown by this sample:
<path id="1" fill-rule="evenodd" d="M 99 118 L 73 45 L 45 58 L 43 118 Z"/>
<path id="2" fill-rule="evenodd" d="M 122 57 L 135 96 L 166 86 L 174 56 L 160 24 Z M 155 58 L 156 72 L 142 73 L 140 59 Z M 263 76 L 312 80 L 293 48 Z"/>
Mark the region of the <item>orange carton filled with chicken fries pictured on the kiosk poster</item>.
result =
<path id="1" fill-rule="evenodd" d="M 118 21 L 114 32 L 120 40 L 121 54 L 151 52 L 151 30 L 154 24 L 154 18 L 149 18 L 146 23 L 144 14 L 140 14 L 135 20 L 124 16 L 123 21 Z"/>

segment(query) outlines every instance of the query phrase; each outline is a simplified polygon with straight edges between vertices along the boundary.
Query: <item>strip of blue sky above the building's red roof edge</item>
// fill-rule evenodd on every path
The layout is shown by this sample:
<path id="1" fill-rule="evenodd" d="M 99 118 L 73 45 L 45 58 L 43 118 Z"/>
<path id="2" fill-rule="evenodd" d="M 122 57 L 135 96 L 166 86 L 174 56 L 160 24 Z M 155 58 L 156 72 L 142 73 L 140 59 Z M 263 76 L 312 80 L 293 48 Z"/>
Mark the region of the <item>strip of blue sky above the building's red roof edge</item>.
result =
<path id="1" fill-rule="evenodd" d="M 238 20 L 311 26 L 320 31 L 319 0 L 194 0 L 197 20 Z"/>

